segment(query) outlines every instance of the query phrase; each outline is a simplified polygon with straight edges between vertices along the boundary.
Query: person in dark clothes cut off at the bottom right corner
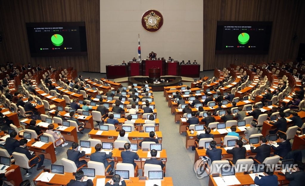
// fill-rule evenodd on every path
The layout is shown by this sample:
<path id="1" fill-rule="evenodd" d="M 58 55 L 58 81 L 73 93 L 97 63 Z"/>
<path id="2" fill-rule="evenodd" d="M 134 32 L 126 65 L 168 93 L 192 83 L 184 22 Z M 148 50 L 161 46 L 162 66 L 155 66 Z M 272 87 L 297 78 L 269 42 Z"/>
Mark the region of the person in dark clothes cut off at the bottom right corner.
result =
<path id="1" fill-rule="evenodd" d="M 295 168 L 296 172 L 285 172 L 286 180 L 290 181 L 289 186 L 294 185 L 304 185 L 304 177 L 305 177 L 305 165 L 302 162 L 297 162 L 297 166 Z"/>

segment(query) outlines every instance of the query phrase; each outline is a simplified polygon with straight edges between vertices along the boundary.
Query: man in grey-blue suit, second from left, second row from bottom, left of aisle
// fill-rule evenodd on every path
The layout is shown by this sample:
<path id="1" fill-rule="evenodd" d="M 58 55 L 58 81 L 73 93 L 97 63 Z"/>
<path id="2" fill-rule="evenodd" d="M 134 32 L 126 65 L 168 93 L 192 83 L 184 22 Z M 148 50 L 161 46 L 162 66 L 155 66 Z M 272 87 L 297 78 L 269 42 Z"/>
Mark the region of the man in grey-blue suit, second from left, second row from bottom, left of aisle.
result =
<path id="1" fill-rule="evenodd" d="M 114 161 L 110 161 L 108 163 L 107 159 L 112 157 L 112 152 L 109 152 L 109 154 L 106 154 L 106 152 L 101 152 L 101 150 L 102 150 L 102 145 L 96 144 L 95 152 L 90 155 L 90 160 L 103 163 L 105 169 L 107 168 L 108 165 L 110 165 L 111 167 L 107 170 L 107 172 L 110 172 L 111 170 L 113 170 Z"/>

